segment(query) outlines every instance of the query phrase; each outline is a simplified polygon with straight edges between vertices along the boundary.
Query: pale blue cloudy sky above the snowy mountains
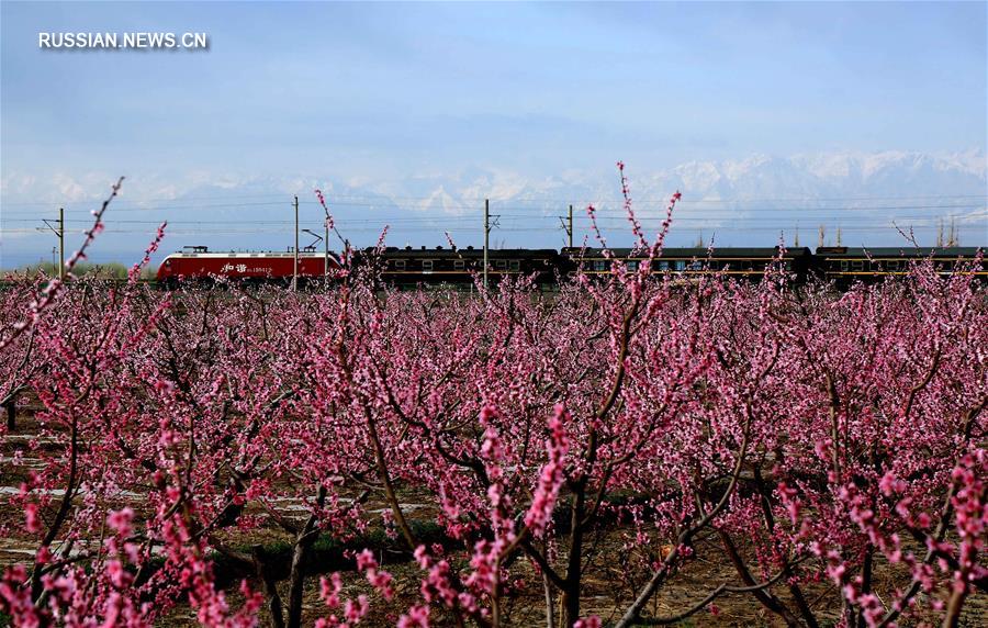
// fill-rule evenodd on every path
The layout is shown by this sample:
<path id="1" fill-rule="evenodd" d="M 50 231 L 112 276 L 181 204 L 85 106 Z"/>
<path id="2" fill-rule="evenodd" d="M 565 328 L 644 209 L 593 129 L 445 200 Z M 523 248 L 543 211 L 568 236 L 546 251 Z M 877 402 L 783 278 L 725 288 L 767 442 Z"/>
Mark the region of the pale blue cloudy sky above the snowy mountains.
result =
<path id="1" fill-rule="evenodd" d="M 988 134 L 980 2 L 0 11 L 8 215 L 47 200 L 56 178 L 99 197 L 111 172 L 139 197 L 251 177 L 356 186 L 464 168 L 538 179 L 618 158 L 654 171 L 752 154 L 984 153 Z M 206 32 L 211 48 L 41 51 L 41 31 Z"/>

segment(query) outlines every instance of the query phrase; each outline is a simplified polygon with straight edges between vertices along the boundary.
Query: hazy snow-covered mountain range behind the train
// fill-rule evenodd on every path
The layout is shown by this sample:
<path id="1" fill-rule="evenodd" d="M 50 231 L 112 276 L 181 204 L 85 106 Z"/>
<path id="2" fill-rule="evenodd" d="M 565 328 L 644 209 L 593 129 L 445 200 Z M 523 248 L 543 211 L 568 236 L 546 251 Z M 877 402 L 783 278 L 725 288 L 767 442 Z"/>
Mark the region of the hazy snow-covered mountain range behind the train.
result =
<path id="1" fill-rule="evenodd" d="M 790 239 L 800 229 L 804 244 L 813 245 L 818 226 L 826 225 L 830 237 L 841 227 L 845 244 L 875 246 L 900 240 L 892 222 L 917 227 L 932 244 L 940 222 L 952 218 L 964 244 L 988 244 L 988 160 L 979 149 L 756 154 L 661 170 L 628 164 L 627 172 L 647 228 L 656 224 L 648 221 L 661 218 L 670 194 L 683 193 L 671 239 L 675 244 L 692 244 L 714 232 L 723 246 L 774 244 L 779 232 Z M 5 172 L 0 181 L 0 265 L 16 266 L 49 254 L 50 237 L 33 232 L 38 225 L 31 221 L 40 224 L 42 217 L 53 217 L 52 210 L 59 205 L 83 218 L 83 210 L 103 198 L 113 179 L 100 172 Z M 605 232 L 624 238 L 628 234 L 613 166 L 551 176 L 464 166 L 393 180 L 341 180 L 332 172 L 291 177 L 195 172 L 128 178 L 96 255 L 138 258 L 147 239 L 141 229 L 151 234 L 151 223 L 166 218 L 172 235 L 165 249 L 186 244 L 283 248 L 291 243 L 293 194 L 302 201 L 303 227 L 322 232 L 315 188 L 326 193 L 338 228 L 358 245 L 375 242 L 385 224 L 391 225 L 391 244 L 445 244 L 446 232 L 460 245 L 480 244 L 484 199 L 491 200 L 492 214 L 498 216 L 492 242 L 504 246 L 559 246 L 564 236 L 557 216 L 564 215 L 571 203 L 577 209 L 577 240 L 588 233 L 583 210 L 590 203 L 600 210 Z M 114 225 L 116 216 L 139 221 L 114 234 L 114 227 L 123 224 Z"/>

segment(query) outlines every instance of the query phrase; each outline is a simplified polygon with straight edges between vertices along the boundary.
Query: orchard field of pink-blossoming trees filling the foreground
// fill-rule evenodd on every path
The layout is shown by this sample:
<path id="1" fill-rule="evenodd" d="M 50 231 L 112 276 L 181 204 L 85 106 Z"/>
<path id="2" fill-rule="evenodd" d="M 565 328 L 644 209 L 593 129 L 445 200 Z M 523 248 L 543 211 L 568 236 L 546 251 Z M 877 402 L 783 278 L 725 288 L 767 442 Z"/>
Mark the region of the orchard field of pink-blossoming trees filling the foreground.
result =
<path id="1" fill-rule="evenodd" d="M 984 621 L 970 273 L 164 291 L 160 237 L 0 292 L 13 624 Z"/>

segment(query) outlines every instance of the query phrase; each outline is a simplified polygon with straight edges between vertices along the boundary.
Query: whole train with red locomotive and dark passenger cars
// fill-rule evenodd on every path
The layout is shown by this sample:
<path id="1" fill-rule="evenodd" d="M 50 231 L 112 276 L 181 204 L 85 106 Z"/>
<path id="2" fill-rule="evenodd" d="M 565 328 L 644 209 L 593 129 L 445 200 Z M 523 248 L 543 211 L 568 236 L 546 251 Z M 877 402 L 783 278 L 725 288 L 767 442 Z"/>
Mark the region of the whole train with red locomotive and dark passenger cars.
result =
<path id="1" fill-rule="evenodd" d="M 652 270 L 683 277 L 722 273 L 759 280 L 775 260 L 790 273 L 796 283 L 811 278 L 847 285 L 855 281 L 874 281 L 909 272 L 910 262 L 932 258 L 938 271 L 951 273 L 957 265 L 976 258 L 981 247 L 852 248 L 821 246 L 816 251 L 807 247 L 779 250 L 764 248 L 665 248 L 652 262 Z M 483 272 L 484 251 L 465 248 L 388 247 L 351 251 L 355 267 L 373 268 L 377 276 L 395 287 L 473 285 Z M 300 250 L 295 272 L 295 254 L 285 251 L 211 251 L 205 246 L 186 247 L 167 256 L 158 268 L 157 280 L 164 284 L 182 281 L 290 282 L 297 276 L 302 282 L 327 281 L 344 267 L 332 251 L 313 248 Z M 496 283 L 504 278 L 526 277 L 541 287 L 558 284 L 577 272 L 588 276 L 610 272 L 617 259 L 629 270 L 637 270 L 647 260 L 647 251 L 631 248 L 498 248 L 487 250 L 487 280 Z M 988 270 L 973 270 L 988 278 Z"/>

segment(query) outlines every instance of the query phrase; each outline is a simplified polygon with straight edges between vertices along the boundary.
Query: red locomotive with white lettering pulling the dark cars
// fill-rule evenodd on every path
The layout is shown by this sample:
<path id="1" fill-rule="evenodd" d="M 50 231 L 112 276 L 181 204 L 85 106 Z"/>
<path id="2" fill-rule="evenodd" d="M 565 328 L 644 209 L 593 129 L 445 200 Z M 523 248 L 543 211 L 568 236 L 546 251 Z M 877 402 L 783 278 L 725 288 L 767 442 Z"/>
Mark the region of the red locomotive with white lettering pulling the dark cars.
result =
<path id="1" fill-rule="evenodd" d="M 211 251 L 204 246 L 189 246 L 182 253 L 165 258 L 158 267 L 158 281 L 180 279 L 232 279 L 237 281 L 291 280 L 295 254 L 292 251 Z M 330 253 L 307 249 L 299 253 L 299 278 L 314 279 L 340 268 Z"/>

